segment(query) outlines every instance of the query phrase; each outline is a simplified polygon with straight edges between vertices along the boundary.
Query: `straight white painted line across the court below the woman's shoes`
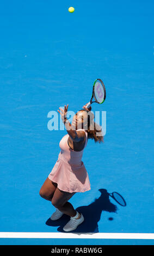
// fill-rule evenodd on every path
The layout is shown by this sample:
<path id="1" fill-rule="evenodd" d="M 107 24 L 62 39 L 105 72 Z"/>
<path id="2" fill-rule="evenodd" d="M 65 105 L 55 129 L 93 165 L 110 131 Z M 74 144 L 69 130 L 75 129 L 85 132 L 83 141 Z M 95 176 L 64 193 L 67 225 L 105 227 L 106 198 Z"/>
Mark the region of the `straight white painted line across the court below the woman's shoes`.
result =
<path id="1" fill-rule="evenodd" d="M 0 232 L 0 238 L 48 239 L 154 239 L 154 233 L 46 233 Z"/>

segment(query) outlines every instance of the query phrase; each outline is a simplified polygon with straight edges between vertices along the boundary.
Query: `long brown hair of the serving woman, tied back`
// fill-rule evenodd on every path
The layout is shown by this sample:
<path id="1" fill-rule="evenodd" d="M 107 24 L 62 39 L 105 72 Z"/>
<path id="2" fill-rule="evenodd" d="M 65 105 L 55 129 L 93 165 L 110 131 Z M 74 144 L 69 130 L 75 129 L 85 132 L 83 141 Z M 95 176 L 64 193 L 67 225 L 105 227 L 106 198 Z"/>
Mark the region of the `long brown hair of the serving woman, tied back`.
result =
<path id="1" fill-rule="evenodd" d="M 81 109 L 79 111 L 85 111 L 85 109 Z M 104 142 L 101 127 L 94 122 L 93 129 L 91 129 L 91 127 L 90 127 L 90 115 L 89 114 L 88 114 L 88 125 L 87 125 L 87 127 L 88 127 L 88 129 L 86 131 L 88 132 L 88 139 L 94 139 L 95 143 Z M 98 133 L 99 133 L 99 136 L 97 135 Z"/>

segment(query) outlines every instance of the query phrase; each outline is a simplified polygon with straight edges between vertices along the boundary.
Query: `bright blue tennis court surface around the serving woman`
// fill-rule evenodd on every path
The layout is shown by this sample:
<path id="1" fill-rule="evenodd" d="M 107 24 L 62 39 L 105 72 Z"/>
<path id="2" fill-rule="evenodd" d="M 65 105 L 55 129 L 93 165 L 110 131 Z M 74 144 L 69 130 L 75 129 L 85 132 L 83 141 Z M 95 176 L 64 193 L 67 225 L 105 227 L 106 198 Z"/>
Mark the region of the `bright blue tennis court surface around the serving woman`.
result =
<path id="1" fill-rule="evenodd" d="M 153 245 L 153 10 L 152 0 L 1 1 L 1 245 Z M 84 150 L 91 190 L 70 203 L 85 221 L 65 233 L 69 217 L 51 221 L 39 195 L 66 134 L 48 129 L 49 113 L 82 109 L 96 78 L 104 143 Z"/>

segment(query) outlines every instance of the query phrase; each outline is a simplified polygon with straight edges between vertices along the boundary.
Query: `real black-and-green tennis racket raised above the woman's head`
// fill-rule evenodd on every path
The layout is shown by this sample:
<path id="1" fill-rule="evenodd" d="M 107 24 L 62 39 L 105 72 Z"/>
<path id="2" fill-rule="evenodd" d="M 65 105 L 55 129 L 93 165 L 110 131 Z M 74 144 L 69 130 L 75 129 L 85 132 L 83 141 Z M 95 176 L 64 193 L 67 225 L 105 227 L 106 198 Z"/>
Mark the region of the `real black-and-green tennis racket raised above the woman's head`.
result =
<path id="1" fill-rule="evenodd" d="M 93 99 L 95 101 L 93 101 Z M 103 81 L 101 79 L 96 79 L 93 85 L 93 94 L 91 100 L 87 104 L 87 108 L 94 102 L 102 104 L 106 99 L 106 88 L 104 87 Z"/>

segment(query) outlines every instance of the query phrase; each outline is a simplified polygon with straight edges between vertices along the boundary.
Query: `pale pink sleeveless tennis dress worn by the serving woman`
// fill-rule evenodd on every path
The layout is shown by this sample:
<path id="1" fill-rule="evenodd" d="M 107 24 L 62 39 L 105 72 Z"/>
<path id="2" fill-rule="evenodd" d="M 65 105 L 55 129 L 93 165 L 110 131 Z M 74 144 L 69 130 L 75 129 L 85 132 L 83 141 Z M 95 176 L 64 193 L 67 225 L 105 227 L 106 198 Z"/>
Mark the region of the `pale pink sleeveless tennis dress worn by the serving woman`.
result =
<path id="1" fill-rule="evenodd" d="M 78 129 L 77 131 L 85 132 L 85 145 L 87 146 L 88 133 L 84 129 Z M 58 160 L 48 175 L 48 178 L 58 184 L 59 190 L 72 192 L 85 192 L 90 190 L 90 181 L 87 170 L 85 169 L 82 161 L 83 150 L 74 151 L 72 150 L 67 139 L 69 135 L 65 135 L 60 143 L 61 149 Z"/>

